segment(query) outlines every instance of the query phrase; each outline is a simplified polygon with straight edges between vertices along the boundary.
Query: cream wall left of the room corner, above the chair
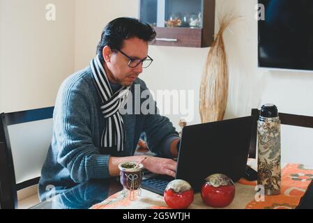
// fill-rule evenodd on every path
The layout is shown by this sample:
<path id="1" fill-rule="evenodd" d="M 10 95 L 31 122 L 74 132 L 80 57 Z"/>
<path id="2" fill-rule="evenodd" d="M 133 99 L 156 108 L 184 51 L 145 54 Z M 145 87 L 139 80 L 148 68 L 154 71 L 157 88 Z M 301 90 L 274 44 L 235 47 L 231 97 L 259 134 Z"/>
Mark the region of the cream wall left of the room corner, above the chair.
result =
<path id="1" fill-rule="evenodd" d="M 56 21 L 46 20 L 47 3 Z M 0 111 L 53 106 L 74 71 L 75 0 L 0 0 Z"/>

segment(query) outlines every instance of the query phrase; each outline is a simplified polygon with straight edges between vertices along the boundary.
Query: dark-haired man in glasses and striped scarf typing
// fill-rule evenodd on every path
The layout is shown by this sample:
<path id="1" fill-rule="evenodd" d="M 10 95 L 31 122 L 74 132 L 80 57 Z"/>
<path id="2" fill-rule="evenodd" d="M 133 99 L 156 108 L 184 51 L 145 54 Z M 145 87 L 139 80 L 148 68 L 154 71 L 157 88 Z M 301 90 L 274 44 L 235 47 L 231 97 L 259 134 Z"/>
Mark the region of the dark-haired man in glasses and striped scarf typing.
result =
<path id="1" fill-rule="evenodd" d="M 128 17 L 113 20 L 102 32 L 90 66 L 63 82 L 39 183 L 41 200 L 52 187 L 58 193 L 91 178 L 119 176 L 121 162 L 143 160 L 144 156 L 133 156 L 142 132 L 158 155 L 144 159 L 144 167 L 175 176 L 176 162 L 171 157 L 178 155 L 179 137 L 169 119 L 160 116 L 156 107 L 152 114 L 121 114 L 126 105 L 132 113 L 143 105 L 135 89 L 148 90 L 138 76 L 153 61 L 148 43 L 154 38 L 155 31 L 148 24 Z"/>

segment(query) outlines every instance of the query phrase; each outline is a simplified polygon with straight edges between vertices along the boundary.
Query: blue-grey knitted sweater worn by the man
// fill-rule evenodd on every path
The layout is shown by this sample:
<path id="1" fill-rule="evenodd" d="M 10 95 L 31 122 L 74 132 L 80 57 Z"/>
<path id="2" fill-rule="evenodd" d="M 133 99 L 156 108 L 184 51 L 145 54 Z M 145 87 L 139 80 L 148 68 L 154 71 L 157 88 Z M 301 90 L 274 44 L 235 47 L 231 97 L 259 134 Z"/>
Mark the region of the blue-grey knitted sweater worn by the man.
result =
<path id="1" fill-rule="evenodd" d="M 159 114 L 142 114 L 138 107 L 147 102 L 139 99 L 138 103 L 136 84 L 140 91 L 147 90 L 139 78 L 131 86 L 133 114 L 122 115 L 126 132 L 123 152 L 100 148 L 106 120 L 100 112 L 100 96 L 91 68 L 71 75 L 61 84 L 54 107 L 52 143 L 39 182 L 41 200 L 47 198 L 51 188 L 59 193 L 91 178 L 109 178 L 109 156 L 133 155 L 142 132 L 146 132 L 148 147 L 153 153 L 170 157 L 169 142 L 178 138 L 178 133 L 168 118 Z M 153 100 L 151 95 L 147 98 Z M 155 101 L 152 102 L 156 112 Z"/>

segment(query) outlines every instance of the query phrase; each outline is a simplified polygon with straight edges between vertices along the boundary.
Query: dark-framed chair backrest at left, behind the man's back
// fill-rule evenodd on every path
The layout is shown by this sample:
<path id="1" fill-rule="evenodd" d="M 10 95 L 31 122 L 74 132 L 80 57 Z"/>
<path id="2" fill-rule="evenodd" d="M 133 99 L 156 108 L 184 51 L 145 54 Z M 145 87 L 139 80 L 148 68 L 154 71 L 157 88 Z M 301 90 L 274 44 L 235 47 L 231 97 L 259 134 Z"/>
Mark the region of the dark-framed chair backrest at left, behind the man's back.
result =
<path id="1" fill-rule="evenodd" d="M 17 191 L 38 183 L 52 140 L 53 109 L 1 114 L 1 208 L 16 208 Z"/>

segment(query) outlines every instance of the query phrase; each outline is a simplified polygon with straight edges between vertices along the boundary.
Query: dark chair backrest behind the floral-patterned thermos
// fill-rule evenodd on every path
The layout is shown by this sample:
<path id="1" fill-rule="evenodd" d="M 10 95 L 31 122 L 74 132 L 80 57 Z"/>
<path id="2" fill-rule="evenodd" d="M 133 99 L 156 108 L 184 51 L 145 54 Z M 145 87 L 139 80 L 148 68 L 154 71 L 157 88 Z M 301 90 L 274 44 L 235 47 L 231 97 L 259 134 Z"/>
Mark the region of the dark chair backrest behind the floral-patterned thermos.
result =
<path id="1" fill-rule="evenodd" d="M 250 149 L 249 149 L 249 157 L 251 158 L 255 158 L 257 155 L 257 120 L 259 118 L 259 114 L 260 114 L 259 109 L 251 110 L 251 115 L 254 117 L 254 122 L 253 122 L 254 131 L 252 132 L 252 137 L 250 141 Z M 300 116 L 296 114 L 286 114 L 286 113 L 279 113 L 279 116 L 280 116 L 280 123 L 282 125 L 292 125 L 292 126 L 298 126 L 298 127 L 313 128 L 312 116 Z M 282 138 L 283 137 L 284 136 L 282 135 Z M 313 137 L 313 134 L 312 134 L 312 137 Z M 294 148 L 294 149 L 295 149 L 295 153 L 299 151 L 298 148 Z"/>

